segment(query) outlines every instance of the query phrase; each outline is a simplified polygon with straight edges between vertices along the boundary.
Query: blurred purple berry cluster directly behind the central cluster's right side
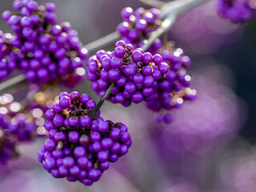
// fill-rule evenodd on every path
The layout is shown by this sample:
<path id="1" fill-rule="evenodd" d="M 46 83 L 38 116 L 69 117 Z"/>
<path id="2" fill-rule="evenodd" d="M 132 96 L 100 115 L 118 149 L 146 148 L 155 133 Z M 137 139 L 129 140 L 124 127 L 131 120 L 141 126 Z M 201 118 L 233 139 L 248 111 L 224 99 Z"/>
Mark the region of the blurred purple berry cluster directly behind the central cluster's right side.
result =
<path id="1" fill-rule="evenodd" d="M 196 91 L 188 87 L 191 78 L 186 74 L 186 68 L 190 66 L 190 58 L 184 55 L 182 49 L 174 49 L 171 43 L 167 45 L 169 48 L 161 50 L 160 54 L 163 61 L 169 64 L 170 70 L 166 79 L 158 84 L 158 90 L 154 91 L 153 99 L 146 102 L 146 106 L 159 113 L 158 122 L 170 123 L 172 118 L 166 111 L 180 108 L 183 100 L 193 100 Z"/>

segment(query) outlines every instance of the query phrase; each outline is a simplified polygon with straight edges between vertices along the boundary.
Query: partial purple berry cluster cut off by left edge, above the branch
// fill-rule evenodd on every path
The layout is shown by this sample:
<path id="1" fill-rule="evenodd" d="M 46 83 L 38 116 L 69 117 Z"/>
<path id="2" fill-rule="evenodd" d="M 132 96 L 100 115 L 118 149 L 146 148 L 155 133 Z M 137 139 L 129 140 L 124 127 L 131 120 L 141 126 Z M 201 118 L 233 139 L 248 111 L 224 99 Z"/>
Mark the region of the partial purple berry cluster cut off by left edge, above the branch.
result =
<path id="1" fill-rule="evenodd" d="M 3 34 L 0 30 L 0 81 L 17 67 L 18 55 L 11 46 L 13 38 L 11 34 Z"/>

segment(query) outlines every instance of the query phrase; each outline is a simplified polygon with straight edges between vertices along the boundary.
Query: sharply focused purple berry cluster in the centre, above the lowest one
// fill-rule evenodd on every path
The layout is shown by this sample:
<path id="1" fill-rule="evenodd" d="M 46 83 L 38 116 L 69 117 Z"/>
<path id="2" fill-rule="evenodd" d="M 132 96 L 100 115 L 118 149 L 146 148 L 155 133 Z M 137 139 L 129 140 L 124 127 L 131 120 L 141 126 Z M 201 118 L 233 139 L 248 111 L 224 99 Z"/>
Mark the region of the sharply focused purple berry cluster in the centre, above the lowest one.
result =
<path id="1" fill-rule="evenodd" d="M 150 54 L 118 41 L 114 52 L 99 50 L 87 62 L 87 78 L 92 89 L 102 96 L 114 82 L 110 102 L 130 106 L 131 102 L 150 101 L 158 82 L 162 82 L 169 66 L 160 54 Z"/>

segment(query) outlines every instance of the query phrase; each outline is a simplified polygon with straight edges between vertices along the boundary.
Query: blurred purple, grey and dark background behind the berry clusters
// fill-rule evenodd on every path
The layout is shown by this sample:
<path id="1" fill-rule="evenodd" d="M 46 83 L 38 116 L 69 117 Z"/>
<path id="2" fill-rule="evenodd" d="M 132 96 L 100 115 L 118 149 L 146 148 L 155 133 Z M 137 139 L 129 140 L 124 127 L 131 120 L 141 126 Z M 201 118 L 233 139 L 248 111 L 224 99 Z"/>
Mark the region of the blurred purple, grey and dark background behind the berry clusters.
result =
<path id="1" fill-rule="evenodd" d="M 12 10 L 12 2 L 1 0 L 0 12 Z M 113 32 L 123 7 L 149 7 L 135 0 L 51 2 L 58 21 L 69 21 L 84 45 Z M 0 26 L 10 32 L 2 20 Z M 190 74 L 198 99 L 174 110 L 170 126 L 156 124 L 143 104 L 124 109 L 106 102 L 103 117 L 125 123 L 133 146 L 99 182 L 88 187 L 53 178 L 37 160 L 41 138 L 19 146 L 21 157 L 0 166 L 1 191 L 255 192 L 255 34 L 255 18 L 234 25 L 218 18 L 214 1 L 190 10 L 168 35 L 193 61 Z M 76 90 L 98 100 L 90 82 Z"/>

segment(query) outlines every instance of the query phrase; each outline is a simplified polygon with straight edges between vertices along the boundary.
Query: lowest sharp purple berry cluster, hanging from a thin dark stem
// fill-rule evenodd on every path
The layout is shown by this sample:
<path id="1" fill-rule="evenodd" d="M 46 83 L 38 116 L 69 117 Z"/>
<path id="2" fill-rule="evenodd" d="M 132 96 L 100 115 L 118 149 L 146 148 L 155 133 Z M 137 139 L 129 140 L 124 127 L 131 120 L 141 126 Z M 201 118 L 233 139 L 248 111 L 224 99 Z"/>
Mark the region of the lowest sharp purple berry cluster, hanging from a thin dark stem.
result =
<path id="1" fill-rule="evenodd" d="M 98 181 L 110 162 L 128 152 L 130 134 L 122 123 L 104 121 L 92 110 L 88 94 L 59 95 L 53 110 L 46 111 L 46 140 L 38 160 L 54 178 L 79 181 L 86 186 Z"/>

